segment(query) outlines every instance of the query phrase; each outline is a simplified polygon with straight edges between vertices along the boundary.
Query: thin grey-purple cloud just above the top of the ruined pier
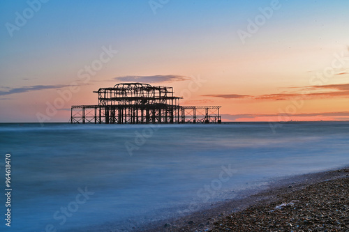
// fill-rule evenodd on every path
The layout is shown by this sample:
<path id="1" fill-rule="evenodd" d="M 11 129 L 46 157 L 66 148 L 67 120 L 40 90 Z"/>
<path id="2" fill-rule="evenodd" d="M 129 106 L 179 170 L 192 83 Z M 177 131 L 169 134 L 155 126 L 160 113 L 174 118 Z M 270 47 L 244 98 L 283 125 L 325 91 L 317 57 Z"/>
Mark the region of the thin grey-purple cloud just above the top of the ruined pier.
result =
<path id="1" fill-rule="evenodd" d="M 157 82 L 180 82 L 191 79 L 182 75 L 154 75 L 154 76 L 125 76 L 114 77 L 113 80 L 117 82 L 144 82 L 144 83 L 157 83 Z"/>

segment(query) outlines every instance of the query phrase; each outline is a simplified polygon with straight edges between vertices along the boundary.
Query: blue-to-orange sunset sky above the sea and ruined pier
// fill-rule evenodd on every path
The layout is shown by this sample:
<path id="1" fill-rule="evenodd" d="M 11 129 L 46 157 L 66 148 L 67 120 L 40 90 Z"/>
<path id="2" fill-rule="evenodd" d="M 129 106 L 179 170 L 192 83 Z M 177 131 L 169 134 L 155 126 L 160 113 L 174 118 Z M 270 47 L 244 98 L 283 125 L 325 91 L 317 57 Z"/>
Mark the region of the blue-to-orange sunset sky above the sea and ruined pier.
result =
<path id="1" fill-rule="evenodd" d="M 3 0 L 0 122 L 68 122 L 98 88 L 173 86 L 223 121 L 349 120 L 349 1 Z"/>

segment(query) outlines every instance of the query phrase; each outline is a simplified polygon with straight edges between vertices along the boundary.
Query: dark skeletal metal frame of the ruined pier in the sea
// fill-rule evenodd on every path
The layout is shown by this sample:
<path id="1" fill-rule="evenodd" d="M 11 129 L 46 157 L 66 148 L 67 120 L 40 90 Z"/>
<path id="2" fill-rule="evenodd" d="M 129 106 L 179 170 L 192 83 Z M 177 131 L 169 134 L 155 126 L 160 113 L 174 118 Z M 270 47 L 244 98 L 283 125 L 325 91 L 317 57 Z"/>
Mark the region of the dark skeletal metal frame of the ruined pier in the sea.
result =
<path id="1" fill-rule="evenodd" d="M 221 123 L 221 107 L 180 106 L 172 87 L 123 83 L 94 93 L 98 105 L 72 106 L 70 123 Z"/>

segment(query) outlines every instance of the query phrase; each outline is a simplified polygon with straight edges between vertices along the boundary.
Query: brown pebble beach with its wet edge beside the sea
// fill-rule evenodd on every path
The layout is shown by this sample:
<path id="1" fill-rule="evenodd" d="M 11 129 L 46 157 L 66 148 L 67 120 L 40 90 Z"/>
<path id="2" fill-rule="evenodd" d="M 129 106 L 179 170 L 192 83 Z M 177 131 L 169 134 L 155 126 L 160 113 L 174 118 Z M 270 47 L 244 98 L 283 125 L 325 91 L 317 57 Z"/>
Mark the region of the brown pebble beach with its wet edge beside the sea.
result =
<path id="1" fill-rule="evenodd" d="M 348 167 L 274 180 L 258 191 L 135 231 L 349 231 Z"/>

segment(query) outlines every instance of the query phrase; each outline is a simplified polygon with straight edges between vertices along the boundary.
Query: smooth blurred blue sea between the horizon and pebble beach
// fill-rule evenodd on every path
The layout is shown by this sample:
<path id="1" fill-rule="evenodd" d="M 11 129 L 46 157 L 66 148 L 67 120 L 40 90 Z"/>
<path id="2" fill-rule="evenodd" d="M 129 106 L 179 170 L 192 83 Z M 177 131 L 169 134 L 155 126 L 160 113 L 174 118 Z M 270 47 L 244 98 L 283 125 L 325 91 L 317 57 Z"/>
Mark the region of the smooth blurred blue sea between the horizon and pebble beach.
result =
<path id="1" fill-rule="evenodd" d="M 349 122 L 0 123 L 0 152 L 0 231 L 131 231 L 346 167 Z"/>

